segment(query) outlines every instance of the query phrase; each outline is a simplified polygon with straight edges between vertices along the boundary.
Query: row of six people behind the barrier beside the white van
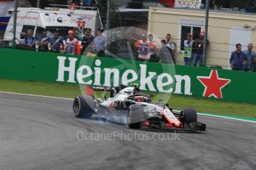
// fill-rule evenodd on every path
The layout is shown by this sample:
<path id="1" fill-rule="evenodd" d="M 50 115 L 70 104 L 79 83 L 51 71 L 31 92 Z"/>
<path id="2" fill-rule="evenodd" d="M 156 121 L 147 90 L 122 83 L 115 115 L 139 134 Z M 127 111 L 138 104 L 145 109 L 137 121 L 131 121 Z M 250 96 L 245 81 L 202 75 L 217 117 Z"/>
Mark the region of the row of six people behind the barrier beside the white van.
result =
<path id="1" fill-rule="evenodd" d="M 20 50 L 32 50 L 39 52 L 58 52 L 70 55 L 82 55 L 91 44 L 90 52 L 98 56 L 105 56 L 105 36 L 104 30 L 99 28 L 96 37 L 91 35 L 91 29 L 85 29 L 85 36 L 82 38 L 81 45 L 76 39 L 76 31 L 70 29 L 66 39 L 59 36 L 59 30 L 54 31 L 53 37 L 47 35 L 47 29 L 37 37 L 33 37 L 33 30 L 27 30 L 27 33 L 21 33 L 16 41 L 16 47 Z"/>

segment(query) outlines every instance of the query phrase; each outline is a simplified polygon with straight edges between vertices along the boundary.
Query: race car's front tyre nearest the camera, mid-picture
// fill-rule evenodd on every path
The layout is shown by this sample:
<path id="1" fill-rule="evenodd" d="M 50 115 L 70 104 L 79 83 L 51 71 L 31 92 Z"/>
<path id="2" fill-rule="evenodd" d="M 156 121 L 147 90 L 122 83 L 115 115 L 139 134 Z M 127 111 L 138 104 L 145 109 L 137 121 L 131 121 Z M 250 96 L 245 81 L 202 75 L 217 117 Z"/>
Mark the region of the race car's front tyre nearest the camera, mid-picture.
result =
<path id="1" fill-rule="evenodd" d="M 140 129 L 144 120 L 144 109 L 140 105 L 131 105 L 128 109 L 127 125 L 131 129 Z"/>

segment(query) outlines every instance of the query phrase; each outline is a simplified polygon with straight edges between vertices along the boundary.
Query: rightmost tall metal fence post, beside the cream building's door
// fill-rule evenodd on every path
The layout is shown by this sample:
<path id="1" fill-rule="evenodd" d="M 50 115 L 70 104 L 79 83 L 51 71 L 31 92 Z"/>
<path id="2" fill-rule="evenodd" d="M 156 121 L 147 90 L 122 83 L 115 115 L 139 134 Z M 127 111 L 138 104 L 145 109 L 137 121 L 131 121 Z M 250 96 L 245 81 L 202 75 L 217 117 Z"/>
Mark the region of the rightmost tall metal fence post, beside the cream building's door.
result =
<path id="1" fill-rule="evenodd" d="M 206 66 L 206 48 L 208 46 L 207 39 L 208 39 L 208 24 L 209 24 L 209 7 L 210 7 L 210 0 L 206 0 L 206 20 L 205 20 L 205 35 L 203 40 L 203 67 Z"/>

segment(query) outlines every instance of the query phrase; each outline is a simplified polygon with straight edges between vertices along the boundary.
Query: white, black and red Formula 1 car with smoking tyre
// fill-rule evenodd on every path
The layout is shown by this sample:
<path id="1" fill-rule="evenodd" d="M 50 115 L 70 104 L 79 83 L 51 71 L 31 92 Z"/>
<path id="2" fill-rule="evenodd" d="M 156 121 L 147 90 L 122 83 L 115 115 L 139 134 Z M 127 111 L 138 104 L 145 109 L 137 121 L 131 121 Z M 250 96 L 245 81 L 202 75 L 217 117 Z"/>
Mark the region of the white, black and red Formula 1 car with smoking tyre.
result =
<path id="1" fill-rule="evenodd" d="M 136 86 L 118 86 L 110 91 L 111 98 L 105 100 L 93 95 L 76 96 L 74 115 L 77 118 L 102 115 L 117 123 L 127 123 L 131 129 L 206 130 L 206 124 L 197 122 L 197 112 L 191 107 L 174 112 L 168 104 L 151 103 L 152 95 L 142 94 Z"/>

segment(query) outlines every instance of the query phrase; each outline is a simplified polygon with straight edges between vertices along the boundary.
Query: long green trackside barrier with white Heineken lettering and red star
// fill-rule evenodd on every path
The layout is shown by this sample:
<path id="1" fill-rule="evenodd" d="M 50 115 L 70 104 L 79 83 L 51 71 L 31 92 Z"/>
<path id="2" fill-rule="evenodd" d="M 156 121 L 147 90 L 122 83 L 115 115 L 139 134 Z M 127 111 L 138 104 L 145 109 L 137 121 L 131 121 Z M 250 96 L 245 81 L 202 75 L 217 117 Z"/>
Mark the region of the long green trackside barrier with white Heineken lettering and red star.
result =
<path id="1" fill-rule="evenodd" d="M 118 86 L 221 101 L 256 103 L 256 73 L 0 49 L 0 78 Z"/>

